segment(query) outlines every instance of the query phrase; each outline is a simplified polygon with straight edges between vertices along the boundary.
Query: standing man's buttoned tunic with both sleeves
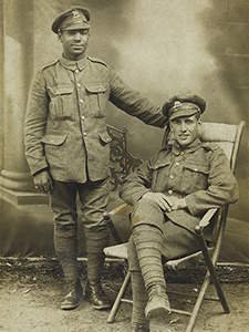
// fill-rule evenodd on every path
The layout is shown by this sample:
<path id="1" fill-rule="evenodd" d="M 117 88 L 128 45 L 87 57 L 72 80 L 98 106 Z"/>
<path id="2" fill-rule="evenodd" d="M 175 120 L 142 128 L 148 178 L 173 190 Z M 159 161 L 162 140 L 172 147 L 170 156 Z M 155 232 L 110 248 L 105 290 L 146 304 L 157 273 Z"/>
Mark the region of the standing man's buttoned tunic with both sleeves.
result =
<path id="1" fill-rule="evenodd" d="M 49 168 L 55 180 L 74 183 L 107 177 L 107 101 L 147 124 L 163 127 L 166 123 L 159 107 L 126 86 L 101 60 L 62 58 L 39 71 L 24 128 L 31 174 Z"/>

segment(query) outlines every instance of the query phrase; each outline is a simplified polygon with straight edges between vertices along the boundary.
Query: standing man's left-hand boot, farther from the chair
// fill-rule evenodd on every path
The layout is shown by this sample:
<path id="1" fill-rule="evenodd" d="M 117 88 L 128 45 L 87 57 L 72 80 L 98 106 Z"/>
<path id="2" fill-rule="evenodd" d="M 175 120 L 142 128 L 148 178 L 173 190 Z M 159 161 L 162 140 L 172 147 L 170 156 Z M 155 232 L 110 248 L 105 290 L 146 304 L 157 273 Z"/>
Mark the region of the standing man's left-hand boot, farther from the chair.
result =
<path id="1" fill-rule="evenodd" d="M 82 298 L 82 287 L 80 280 L 76 282 L 68 282 L 66 295 L 61 302 L 61 310 L 73 310 L 80 305 Z"/>

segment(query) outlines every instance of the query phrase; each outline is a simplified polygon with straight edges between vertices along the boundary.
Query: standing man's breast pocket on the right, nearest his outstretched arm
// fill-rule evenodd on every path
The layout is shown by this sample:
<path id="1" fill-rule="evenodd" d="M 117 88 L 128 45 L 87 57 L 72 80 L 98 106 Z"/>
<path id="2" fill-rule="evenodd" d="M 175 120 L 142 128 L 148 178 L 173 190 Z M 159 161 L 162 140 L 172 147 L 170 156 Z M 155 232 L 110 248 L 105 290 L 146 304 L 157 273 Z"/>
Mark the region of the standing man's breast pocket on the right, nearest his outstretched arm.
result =
<path id="1" fill-rule="evenodd" d="M 85 83 L 85 90 L 90 98 L 90 112 L 95 117 L 104 117 L 107 101 L 107 85 L 105 83 Z"/>

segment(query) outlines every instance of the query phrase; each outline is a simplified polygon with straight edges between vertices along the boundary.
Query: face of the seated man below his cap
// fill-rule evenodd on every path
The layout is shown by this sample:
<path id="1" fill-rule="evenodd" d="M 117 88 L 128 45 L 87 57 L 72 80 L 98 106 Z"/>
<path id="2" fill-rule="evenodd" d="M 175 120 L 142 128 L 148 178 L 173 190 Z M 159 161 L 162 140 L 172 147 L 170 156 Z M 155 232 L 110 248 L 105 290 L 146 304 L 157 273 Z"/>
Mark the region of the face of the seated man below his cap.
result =
<path id="1" fill-rule="evenodd" d="M 197 137 L 201 121 L 196 115 L 169 120 L 170 131 L 175 141 L 183 147 L 191 144 Z"/>

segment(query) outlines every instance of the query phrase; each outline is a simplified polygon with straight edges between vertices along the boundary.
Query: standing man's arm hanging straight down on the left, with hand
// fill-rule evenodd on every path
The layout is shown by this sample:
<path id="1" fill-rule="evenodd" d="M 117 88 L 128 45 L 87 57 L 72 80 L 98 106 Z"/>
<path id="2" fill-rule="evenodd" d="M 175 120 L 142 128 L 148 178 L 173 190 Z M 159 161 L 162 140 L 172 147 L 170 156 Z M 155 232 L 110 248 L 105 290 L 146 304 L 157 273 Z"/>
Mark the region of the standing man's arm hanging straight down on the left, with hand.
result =
<path id="1" fill-rule="evenodd" d="M 30 90 L 24 123 L 25 156 L 34 179 L 34 186 L 42 193 L 52 189 L 52 179 L 48 170 L 44 147 L 41 138 L 44 135 L 49 97 L 45 91 L 45 80 L 39 72 Z"/>

